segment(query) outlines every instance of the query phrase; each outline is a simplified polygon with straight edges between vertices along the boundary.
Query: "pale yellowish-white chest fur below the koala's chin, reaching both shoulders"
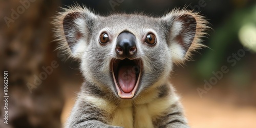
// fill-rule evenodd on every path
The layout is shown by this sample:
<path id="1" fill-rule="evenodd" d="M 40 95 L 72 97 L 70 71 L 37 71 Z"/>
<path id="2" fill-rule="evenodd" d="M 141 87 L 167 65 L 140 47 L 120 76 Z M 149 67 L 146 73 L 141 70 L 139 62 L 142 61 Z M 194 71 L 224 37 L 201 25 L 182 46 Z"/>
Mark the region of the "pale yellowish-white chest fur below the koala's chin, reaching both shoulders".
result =
<path id="1" fill-rule="evenodd" d="M 112 117 L 110 125 L 123 126 L 125 128 L 154 127 L 153 121 L 166 114 L 167 109 L 176 103 L 179 98 L 176 95 L 156 98 L 158 92 L 148 93 L 140 101 L 124 101 L 115 105 L 102 98 L 84 95 L 83 98 L 106 111 Z"/>

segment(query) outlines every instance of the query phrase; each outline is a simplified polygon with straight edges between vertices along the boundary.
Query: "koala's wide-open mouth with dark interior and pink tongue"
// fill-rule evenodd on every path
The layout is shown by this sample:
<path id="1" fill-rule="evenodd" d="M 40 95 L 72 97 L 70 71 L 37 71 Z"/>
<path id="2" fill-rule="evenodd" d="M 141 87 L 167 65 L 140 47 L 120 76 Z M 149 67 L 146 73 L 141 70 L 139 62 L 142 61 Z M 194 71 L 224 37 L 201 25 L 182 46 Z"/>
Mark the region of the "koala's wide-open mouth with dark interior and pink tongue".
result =
<path id="1" fill-rule="evenodd" d="M 141 59 L 113 59 L 112 75 L 118 96 L 131 99 L 138 89 L 142 72 Z"/>

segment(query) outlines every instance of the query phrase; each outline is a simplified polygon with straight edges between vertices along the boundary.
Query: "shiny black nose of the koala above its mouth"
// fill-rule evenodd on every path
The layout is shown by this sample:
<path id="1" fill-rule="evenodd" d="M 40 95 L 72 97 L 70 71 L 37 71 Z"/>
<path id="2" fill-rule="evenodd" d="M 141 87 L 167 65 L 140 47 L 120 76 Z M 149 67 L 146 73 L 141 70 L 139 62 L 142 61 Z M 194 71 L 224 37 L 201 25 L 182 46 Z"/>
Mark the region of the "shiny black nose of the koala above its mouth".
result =
<path id="1" fill-rule="evenodd" d="M 122 32 L 118 35 L 116 53 L 121 57 L 133 57 L 136 55 L 136 38 L 132 33 Z"/>

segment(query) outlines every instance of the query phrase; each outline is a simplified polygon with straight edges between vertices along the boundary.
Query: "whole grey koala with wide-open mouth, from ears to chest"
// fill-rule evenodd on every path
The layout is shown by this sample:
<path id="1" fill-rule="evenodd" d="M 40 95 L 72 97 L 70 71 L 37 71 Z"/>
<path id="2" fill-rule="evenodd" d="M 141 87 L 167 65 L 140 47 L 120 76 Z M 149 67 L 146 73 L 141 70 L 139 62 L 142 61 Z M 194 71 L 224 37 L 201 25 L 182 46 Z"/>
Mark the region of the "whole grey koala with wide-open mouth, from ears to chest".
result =
<path id="1" fill-rule="evenodd" d="M 169 74 L 203 46 L 202 16 L 100 16 L 72 7 L 54 24 L 60 48 L 80 60 L 85 79 L 66 127 L 189 127 Z"/>

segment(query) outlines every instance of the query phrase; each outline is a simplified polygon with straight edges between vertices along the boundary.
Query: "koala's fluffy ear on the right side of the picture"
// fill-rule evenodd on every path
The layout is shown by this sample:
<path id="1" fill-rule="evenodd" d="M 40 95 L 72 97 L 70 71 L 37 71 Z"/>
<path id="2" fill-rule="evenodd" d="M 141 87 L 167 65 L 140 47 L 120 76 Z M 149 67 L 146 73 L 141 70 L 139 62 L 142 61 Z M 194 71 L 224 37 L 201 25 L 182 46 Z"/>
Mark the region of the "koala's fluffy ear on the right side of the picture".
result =
<path id="1" fill-rule="evenodd" d="M 191 57 L 191 52 L 204 47 L 200 43 L 208 22 L 203 16 L 192 11 L 173 10 L 163 20 L 167 24 L 169 50 L 174 53 L 174 63 L 182 63 Z"/>

